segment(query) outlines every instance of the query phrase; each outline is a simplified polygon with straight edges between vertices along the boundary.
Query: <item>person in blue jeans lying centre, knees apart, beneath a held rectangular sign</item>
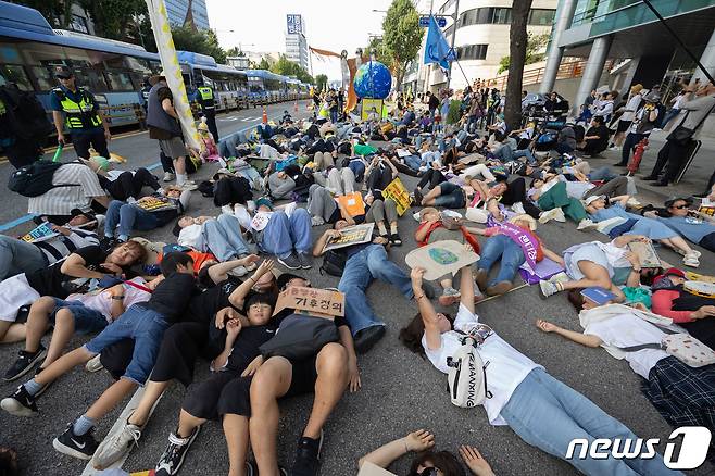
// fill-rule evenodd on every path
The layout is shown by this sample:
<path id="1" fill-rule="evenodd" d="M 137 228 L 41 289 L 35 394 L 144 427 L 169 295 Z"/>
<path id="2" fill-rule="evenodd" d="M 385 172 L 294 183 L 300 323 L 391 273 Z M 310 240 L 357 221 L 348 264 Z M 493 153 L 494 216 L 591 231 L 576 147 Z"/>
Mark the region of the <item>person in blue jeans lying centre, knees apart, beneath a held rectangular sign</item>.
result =
<path id="1" fill-rule="evenodd" d="M 340 236 L 340 230 L 346 226 L 348 222 L 340 220 L 336 222 L 335 229 L 327 229 L 315 242 L 313 255 L 323 255 L 328 239 Z M 346 320 L 358 353 L 367 352 L 385 336 L 385 323 L 375 314 L 365 296 L 373 279 L 394 285 L 407 300 L 414 297 L 410 277 L 387 256 L 385 246 L 388 243 L 387 238 L 376 237 L 372 243 L 353 245 L 340 250 L 348 260 L 338 290 L 346 295 Z"/>

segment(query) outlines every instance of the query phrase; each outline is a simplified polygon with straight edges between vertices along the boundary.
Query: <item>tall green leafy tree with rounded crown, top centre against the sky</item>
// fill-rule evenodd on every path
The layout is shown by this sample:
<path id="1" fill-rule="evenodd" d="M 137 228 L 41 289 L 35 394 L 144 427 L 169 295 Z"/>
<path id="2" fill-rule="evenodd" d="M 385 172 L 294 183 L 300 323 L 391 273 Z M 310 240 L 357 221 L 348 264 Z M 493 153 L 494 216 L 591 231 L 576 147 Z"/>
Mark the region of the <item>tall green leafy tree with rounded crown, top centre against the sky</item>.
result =
<path id="1" fill-rule="evenodd" d="M 419 51 L 425 34 L 419 27 L 419 13 L 410 0 L 392 0 L 382 20 L 382 41 L 392 63 L 388 64 L 396 75 L 398 90 L 407 65 Z"/>

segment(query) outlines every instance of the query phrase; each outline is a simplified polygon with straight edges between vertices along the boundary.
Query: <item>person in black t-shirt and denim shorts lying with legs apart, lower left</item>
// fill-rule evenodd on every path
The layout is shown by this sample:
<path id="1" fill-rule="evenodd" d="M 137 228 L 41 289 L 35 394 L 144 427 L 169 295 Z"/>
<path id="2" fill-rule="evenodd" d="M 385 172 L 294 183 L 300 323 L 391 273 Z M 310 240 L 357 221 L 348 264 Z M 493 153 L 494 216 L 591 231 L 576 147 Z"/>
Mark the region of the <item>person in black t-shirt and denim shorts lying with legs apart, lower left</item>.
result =
<path id="1" fill-rule="evenodd" d="M 98 447 L 92 436 L 96 422 L 145 384 L 154 366 L 164 330 L 179 318 L 191 298 L 195 289 L 191 256 L 180 252 L 167 253 L 162 260 L 161 271 L 165 278 L 149 301 L 131 305 L 85 346 L 58 359 L 35 378 L 21 385 L 0 402 L 0 406 L 16 416 L 37 414 L 38 393 L 48 385 L 77 365 L 84 365 L 112 343 L 134 339 L 134 353 L 124 376 L 104 390 L 87 413 L 71 423 L 52 443 L 61 453 L 90 459 Z M 123 299 L 123 296 L 114 298 Z"/>

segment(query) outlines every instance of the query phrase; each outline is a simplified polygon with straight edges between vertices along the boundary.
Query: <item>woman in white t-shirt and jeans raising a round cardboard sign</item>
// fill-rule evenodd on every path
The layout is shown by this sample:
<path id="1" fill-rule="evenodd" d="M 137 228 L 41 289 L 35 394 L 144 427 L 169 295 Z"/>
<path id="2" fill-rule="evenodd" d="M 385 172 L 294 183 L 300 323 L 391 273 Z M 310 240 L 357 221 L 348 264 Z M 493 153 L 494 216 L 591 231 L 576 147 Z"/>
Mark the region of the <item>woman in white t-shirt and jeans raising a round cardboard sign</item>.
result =
<path id="1" fill-rule="evenodd" d="M 424 353 L 443 373 L 447 359 L 461 347 L 463 335 L 479 330 L 488 337 L 479 346 L 486 364 L 488 394 L 485 410 L 489 423 L 509 425 L 524 441 L 556 458 L 565 459 L 572 440 L 584 438 L 638 438 L 628 427 L 612 417 L 589 399 L 549 375 L 544 368 L 514 349 L 474 313 L 474 283 L 471 268 L 462 268 L 462 302 L 454 323 L 437 313 L 422 291 L 424 268 L 412 271 L 412 286 L 419 314 L 400 331 L 400 339 L 411 350 Z M 419 346 L 421 343 L 421 346 Z M 588 475 L 665 475 L 677 474 L 666 468 L 663 459 L 607 458 L 566 460 Z"/>

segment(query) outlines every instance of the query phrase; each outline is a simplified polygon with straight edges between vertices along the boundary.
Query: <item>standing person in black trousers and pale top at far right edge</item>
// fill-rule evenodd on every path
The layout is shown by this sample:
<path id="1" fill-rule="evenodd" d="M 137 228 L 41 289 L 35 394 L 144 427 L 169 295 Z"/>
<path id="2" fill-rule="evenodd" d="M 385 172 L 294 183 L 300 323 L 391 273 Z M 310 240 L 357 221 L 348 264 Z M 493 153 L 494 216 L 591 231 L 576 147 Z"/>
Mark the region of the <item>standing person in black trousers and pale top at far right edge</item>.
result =
<path id="1" fill-rule="evenodd" d="M 653 171 L 648 177 L 643 178 L 643 180 L 657 180 L 655 185 L 660 187 L 666 187 L 678 176 L 680 167 L 688 160 L 693 138 L 697 137 L 705 123 L 707 114 L 715 108 L 715 85 L 712 83 L 701 87 L 697 85 L 688 86 L 682 92 L 686 93 L 686 97 L 680 102 L 680 107 L 687 112 L 687 115 L 682 117 L 678 125 L 692 130 L 693 134 L 686 141 L 676 141 L 668 135 L 665 146 L 657 153 Z M 661 172 L 666 164 L 667 170 L 661 178 Z"/>

